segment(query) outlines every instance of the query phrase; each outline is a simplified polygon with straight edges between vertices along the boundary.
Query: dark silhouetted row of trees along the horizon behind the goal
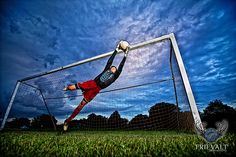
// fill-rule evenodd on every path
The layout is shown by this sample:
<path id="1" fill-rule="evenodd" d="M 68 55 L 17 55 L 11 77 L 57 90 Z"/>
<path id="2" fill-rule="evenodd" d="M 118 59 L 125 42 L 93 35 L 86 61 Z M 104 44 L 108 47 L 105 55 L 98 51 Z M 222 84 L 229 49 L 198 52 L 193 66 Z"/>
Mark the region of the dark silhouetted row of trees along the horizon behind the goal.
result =
<path id="1" fill-rule="evenodd" d="M 87 118 L 73 120 L 71 128 L 75 129 L 154 129 L 154 130 L 194 130 L 194 122 L 191 112 L 182 112 L 175 104 L 161 102 L 149 109 L 149 115 L 138 114 L 130 121 L 122 118 L 118 111 L 114 111 L 109 117 L 88 115 Z M 236 109 L 223 104 L 220 100 L 212 101 L 200 113 L 201 119 L 207 122 L 207 128 L 215 127 L 215 122 L 226 119 L 229 122 L 229 130 L 236 130 Z M 53 117 L 55 123 L 57 120 Z M 52 129 L 52 121 L 49 115 L 43 114 L 28 118 L 15 118 L 6 123 L 7 128 L 18 129 Z M 58 125 L 62 128 L 62 125 Z"/>

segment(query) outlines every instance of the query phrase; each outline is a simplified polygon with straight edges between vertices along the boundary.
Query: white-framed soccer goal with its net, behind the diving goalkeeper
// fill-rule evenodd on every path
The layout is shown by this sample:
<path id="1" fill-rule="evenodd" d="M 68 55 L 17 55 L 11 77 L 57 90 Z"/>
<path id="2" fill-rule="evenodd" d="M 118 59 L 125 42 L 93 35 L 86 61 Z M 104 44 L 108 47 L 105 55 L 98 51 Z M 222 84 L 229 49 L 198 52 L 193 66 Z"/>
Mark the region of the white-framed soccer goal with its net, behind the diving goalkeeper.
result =
<path id="1" fill-rule="evenodd" d="M 115 47 L 115 44 L 114 44 Z M 83 99 L 69 84 L 94 79 L 112 52 L 17 82 L 3 128 L 59 129 Z M 117 54 L 117 66 L 123 53 Z M 174 34 L 131 45 L 120 77 L 70 123 L 76 129 L 192 130 L 201 127 Z"/>

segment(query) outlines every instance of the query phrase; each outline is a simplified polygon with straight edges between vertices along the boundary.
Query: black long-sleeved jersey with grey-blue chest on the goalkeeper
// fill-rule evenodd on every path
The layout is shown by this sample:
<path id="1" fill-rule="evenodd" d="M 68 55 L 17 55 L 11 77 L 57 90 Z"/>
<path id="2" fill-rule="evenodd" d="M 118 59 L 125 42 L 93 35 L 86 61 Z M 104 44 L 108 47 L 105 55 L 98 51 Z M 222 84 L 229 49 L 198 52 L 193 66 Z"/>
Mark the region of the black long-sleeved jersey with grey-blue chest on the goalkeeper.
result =
<path id="1" fill-rule="evenodd" d="M 112 73 L 110 70 L 110 67 L 112 65 L 112 62 L 115 58 L 115 55 L 117 54 L 117 51 L 115 50 L 112 54 L 112 56 L 108 59 L 107 65 L 105 67 L 105 69 L 103 70 L 102 73 L 100 73 L 95 79 L 94 81 L 97 83 L 97 85 L 101 88 L 104 89 L 108 86 L 110 86 L 113 82 L 115 82 L 115 80 L 120 76 L 120 73 L 123 69 L 123 66 L 125 64 L 126 61 L 126 57 L 124 57 L 118 67 L 118 69 L 116 70 L 115 73 Z"/>

